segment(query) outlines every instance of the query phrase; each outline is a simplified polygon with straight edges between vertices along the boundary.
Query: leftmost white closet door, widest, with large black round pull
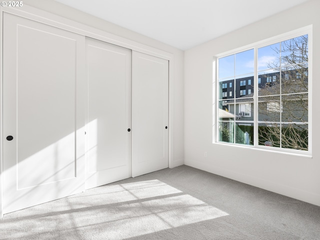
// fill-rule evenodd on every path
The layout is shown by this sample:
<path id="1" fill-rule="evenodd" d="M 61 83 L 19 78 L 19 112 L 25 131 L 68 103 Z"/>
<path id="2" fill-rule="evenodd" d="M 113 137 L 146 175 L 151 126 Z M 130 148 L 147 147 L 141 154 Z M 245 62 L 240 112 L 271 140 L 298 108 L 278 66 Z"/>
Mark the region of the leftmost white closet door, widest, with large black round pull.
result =
<path id="1" fill-rule="evenodd" d="M 7 213 L 84 190 L 85 43 L 83 36 L 7 13 L 3 24 Z"/>

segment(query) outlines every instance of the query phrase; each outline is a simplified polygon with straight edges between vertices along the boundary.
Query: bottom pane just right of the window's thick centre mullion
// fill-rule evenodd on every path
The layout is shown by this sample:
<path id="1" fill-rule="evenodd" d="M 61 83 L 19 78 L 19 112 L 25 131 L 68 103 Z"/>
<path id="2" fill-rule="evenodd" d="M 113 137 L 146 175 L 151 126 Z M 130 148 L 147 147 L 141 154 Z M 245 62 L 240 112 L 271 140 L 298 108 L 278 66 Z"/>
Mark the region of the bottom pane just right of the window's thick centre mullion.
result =
<path id="1" fill-rule="evenodd" d="M 258 139 L 259 145 L 280 147 L 280 124 L 259 123 Z"/>

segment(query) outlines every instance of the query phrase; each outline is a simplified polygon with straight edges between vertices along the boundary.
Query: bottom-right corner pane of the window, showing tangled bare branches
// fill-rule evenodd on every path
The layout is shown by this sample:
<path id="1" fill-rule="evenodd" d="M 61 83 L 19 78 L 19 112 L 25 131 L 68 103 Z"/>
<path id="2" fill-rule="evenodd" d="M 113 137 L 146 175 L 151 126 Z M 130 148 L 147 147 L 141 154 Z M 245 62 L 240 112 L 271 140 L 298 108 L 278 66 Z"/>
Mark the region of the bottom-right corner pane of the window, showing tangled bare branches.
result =
<path id="1" fill-rule="evenodd" d="M 281 147 L 298 150 L 308 150 L 307 124 L 282 124 Z"/>

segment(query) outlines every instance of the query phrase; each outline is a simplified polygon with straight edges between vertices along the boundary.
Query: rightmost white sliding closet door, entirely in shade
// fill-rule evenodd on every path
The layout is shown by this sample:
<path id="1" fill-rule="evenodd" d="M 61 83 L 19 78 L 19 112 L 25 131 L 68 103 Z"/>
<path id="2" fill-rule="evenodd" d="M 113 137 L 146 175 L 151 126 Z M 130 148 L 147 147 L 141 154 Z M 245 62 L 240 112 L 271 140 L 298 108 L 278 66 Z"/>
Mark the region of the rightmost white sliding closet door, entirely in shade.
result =
<path id="1" fill-rule="evenodd" d="M 168 60 L 132 51 L 132 176 L 168 167 Z"/>

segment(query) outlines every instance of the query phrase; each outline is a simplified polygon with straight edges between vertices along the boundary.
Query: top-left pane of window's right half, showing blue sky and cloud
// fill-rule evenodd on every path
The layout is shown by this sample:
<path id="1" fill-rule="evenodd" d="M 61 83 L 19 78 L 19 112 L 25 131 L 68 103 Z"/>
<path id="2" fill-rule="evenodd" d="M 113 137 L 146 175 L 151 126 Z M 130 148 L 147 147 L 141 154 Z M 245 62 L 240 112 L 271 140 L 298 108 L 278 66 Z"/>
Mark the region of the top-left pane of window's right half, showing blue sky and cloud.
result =
<path id="1" fill-rule="evenodd" d="M 280 43 L 258 48 L 258 71 L 279 67 Z"/>

